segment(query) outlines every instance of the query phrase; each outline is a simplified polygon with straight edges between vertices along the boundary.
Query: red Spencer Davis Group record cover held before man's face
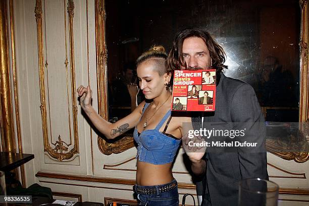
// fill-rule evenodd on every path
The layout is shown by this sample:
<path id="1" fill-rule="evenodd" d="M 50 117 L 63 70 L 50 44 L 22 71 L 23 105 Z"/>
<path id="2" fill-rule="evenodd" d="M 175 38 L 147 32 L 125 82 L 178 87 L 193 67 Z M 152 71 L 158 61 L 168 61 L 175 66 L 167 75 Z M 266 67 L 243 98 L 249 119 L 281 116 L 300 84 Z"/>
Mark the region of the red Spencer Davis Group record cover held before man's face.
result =
<path id="1" fill-rule="evenodd" d="M 175 70 L 172 111 L 215 111 L 216 70 Z"/>

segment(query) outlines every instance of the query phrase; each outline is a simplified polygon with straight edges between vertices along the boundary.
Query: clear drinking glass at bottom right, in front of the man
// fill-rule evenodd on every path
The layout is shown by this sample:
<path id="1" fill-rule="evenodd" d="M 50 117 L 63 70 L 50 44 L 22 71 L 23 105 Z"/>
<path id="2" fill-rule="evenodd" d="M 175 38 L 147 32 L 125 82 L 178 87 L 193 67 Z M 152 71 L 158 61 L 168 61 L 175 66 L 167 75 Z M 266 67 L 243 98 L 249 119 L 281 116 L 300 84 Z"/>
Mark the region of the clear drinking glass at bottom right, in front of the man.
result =
<path id="1" fill-rule="evenodd" d="M 277 206 L 279 186 L 260 178 L 244 179 L 239 182 L 239 206 Z"/>

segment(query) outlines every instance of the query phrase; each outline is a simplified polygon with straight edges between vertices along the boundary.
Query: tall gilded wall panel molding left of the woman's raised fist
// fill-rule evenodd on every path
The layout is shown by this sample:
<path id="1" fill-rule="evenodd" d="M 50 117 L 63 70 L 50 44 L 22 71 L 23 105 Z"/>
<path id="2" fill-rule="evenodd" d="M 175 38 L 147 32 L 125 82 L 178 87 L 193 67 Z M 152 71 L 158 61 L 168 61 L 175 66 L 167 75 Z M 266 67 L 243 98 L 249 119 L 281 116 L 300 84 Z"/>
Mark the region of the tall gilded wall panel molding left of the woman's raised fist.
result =
<path id="1" fill-rule="evenodd" d="M 64 1 L 65 4 L 65 1 Z M 35 5 L 35 17 L 37 22 L 37 42 L 38 42 L 38 63 L 39 63 L 39 83 L 40 83 L 40 97 L 41 97 L 41 118 L 42 118 L 42 130 L 43 130 L 43 142 L 44 151 L 52 158 L 58 161 L 69 160 L 73 158 L 76 153 L 79 153 L 78 144 L 78 128 L 77 128 L 77 104 L 75 94 L 75 65 L 74 65 L 74 35 L 73 35 L 73 17 L 74 17 L 74 2 L 73 0 L 68 1 L 67 12 L 69 14 L 69 39 L 70 39 L 70 70 L 71 70 L 71 91 L 72 91 L 72 110 L 73 110 L 73 131 L 74 131 L 74 145 L 69 151 L 67 143 L 62 141 L 60 135 L 56 143 L 52 143 L 55 147 L 49 145 L 48 140 L 48 127 L 47 127 L 47 112 L 46 112 L 46 101 L 45 101 L 45 74 L 44 74 L 44 52 L 43 52 L 43 29 L 42 29 L 42 3 L 41 0 L 36 0 Z M 66 19 L 65 19 L 66 22 Z M 66 29 L 66 27 L 65 27 Z M 67 44 L 66 44 L 67 45 Z M 66 68 L 68 66 L 68 58 L 65 61 Z M 47 69 L 48 63 L 46 59 L 45 67 Z M 71 133 L 71 132 L 70 132 Z M 70 143 L 71 144 L 71 143 Z M 65 153 L 66 152 L 66 153 Z"/>

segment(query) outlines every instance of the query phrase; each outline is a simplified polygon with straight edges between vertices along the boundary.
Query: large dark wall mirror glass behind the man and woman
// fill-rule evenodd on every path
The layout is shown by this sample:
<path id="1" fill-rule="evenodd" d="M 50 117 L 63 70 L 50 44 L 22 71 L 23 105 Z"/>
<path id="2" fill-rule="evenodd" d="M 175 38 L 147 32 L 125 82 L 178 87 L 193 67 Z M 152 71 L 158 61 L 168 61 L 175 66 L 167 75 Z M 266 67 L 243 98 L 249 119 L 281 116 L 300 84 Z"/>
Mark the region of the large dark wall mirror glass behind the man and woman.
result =
<path id="1" fill-rule="evenodd" d="M 126 65 L 134 63 L 155 44 L 165 46 L 169 52 L 175 34 L 184 28 L 204 27 L 226 52 L 229 69 L 225 75 L 246 81 L 254 88 L 266 121 L 298 122 L 302 118 L 299 93 L 302 95 L 307 89 L 299 90 L 303 83 L 300 68 L 304 68 L 300 58 L 307 49 L 306 44 L 299 46 L 301 27 L 307 25 L 302 17 L 305 7 L 306 1 L 299 4 L 296 0 L 106 0 L 105 35 L 109 55 L 105 78 L 110 88 L 110 117 L 120 119 L 121 115 L 130 113 L 127 103 L 114 104 L 117 94 L 113 87 L 116 80 L 126 79 Z M 138 100 L 141 101 L 142 96 Z M 307 110 L 302 102 L 300 105 Z M 109 143 L 110 147 L 118 148 L 116 153 L 134 145 L 130 133 L 124 136 Z M 104 143 L 101 142 L 105 140 L 98 141 L 102 148 Z M 126 142 L 123 148 L 120 148 L 121 141 Z"/>

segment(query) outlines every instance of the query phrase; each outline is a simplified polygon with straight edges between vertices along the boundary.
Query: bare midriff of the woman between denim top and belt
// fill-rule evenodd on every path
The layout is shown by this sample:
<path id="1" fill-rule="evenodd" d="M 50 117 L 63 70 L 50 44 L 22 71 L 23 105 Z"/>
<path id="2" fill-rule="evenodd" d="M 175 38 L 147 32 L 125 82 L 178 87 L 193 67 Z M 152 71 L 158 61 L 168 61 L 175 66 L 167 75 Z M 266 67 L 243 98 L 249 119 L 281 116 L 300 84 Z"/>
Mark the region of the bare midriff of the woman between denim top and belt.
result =
<path id="1" fill-rule="evenodd" d="M 153 165 L 137 161 L 136 183 L 143 186 L 166 184 L 174 180 L 172 163 Z"/>

